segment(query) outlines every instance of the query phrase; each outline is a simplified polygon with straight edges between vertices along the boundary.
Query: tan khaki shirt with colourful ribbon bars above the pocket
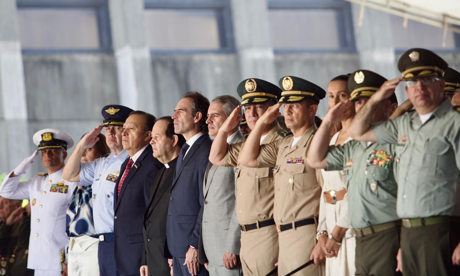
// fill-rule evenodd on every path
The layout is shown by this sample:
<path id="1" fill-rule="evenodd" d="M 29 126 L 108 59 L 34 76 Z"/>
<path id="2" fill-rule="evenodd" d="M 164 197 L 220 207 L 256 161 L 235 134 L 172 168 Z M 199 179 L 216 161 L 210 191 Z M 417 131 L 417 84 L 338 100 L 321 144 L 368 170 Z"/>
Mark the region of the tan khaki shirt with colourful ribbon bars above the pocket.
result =
<path id="1" fill-rule="evenodd" d="M 306 162 L 307 151 L 316 129 L 316 125 L 313 124 L 292 148 L 292 135 L 260 146 L 258 166 L 275 167 L 273 173 L 276 224 L 286 224 L 319 215 L 322 174 L 320 169 L 313 169 Z M 288 160 L 296 158 L 303 163 L 288 163 Z"/>

